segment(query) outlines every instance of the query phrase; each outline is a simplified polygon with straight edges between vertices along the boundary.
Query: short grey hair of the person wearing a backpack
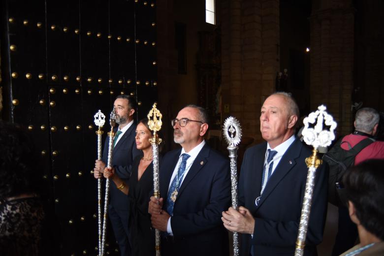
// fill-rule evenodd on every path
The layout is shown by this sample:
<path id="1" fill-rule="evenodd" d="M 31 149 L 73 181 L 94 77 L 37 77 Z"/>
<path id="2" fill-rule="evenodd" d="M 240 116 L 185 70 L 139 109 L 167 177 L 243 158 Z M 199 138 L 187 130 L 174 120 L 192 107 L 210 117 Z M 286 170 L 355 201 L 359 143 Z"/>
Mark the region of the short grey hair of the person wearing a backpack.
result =
<path id="1" fill-rule="evenodd" d="M 363 107 L 357 110 L 354 117 L 355 129 L 358 131 L 369 133 L 376 124 L 379 124 L 380 115 L 375 109 Z"/>

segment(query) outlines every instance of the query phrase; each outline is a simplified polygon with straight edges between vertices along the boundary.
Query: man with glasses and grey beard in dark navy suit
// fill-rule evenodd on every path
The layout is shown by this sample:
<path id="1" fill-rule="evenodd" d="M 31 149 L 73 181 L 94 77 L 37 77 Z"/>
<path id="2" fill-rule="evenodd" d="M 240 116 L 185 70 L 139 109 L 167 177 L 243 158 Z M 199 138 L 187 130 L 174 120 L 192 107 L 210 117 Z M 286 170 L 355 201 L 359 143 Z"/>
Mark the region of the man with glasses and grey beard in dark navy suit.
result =
<path id="1" fill-rule="evenodd" d="M 188 105 L 172 120 L 174 141 L 182 146 L 163 157 L 160 194 L 149 202 L 153 227 L 165 256 L 228 255 L 221 212 L 230 204 L 229 161 L 204 141 L 205 109 Z"/>

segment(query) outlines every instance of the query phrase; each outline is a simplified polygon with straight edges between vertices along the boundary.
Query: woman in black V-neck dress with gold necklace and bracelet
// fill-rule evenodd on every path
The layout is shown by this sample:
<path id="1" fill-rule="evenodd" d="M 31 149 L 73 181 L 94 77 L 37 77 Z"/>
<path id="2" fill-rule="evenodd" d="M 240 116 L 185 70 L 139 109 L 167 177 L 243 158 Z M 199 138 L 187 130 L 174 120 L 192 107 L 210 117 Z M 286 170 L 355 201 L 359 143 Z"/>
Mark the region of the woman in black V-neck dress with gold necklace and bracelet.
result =
<path id="1" fill-rule="evenodd" d="M 130 235 L 133 256 L 154 256 L 155 230 L 151 226 L 148 202 L 153 191 L 153 152 L 149 139 L 152 137 L 148 120 L 141 120 L 136 127 L 136 147 L 143 151 L 143 157 L 133 160 L 129 184 L 125 184 L 113 168 L 104 170 L 104 177 L 111 178 L 121 192 L 130 197 Z"/>

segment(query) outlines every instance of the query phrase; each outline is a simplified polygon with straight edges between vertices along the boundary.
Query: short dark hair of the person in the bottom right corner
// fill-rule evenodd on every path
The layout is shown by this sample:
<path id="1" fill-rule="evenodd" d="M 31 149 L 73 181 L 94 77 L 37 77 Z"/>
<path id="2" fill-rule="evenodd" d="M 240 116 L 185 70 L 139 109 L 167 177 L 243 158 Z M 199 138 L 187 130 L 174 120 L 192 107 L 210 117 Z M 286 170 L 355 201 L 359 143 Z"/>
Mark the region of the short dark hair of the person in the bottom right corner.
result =
<path id="1" fill-rule="evenodd" d="M 384 240 L 384 160 L 366 160 L 349 169 L 343 178 L 346 198 L 356 217 L 370 233 Z"/>

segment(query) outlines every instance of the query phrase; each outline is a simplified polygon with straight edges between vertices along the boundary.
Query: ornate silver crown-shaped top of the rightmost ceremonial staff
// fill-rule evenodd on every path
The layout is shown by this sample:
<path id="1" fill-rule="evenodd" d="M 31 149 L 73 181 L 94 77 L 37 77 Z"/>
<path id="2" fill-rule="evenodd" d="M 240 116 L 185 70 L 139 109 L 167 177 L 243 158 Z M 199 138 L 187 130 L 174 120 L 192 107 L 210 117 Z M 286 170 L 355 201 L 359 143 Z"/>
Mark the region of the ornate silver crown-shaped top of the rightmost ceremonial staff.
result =
<path id="1" fill-rule="evenodd" d="M 326 109 L 324 105 L 320 105 L 318 110 L 310 113 L 303 121 L 304 129 L 302 135 L 304 141 L 315 149 L 318 147 L 327 147 L 331 145 L 332 140 L 335 139 L 334 130 L 337 127 L 337 123 L 333 121 L 333 117 L 325 111 Z M 329 130 L 323 129 L 323 123 L 325 126 L 330 127 Z M 314 125 L 314 127 L 310 128 L 310 124 Z"/>

